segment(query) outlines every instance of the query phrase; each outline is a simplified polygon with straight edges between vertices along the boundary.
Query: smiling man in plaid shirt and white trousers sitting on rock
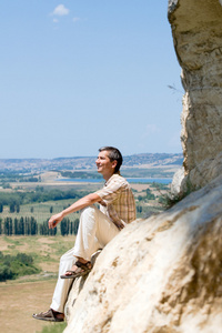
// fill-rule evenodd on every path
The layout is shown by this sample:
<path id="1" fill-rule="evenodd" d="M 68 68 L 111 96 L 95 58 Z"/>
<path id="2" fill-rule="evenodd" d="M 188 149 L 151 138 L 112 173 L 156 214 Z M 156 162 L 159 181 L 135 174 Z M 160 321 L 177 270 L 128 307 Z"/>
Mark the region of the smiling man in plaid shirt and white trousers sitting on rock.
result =
<path id="1" fill-rule="evenodd" d="M 89 273 L 92 269 L 91 255 L 98 249 L 104 248 L 127 223 L 135 220 L 132 191 L 119 172 L 122 164 L 120 151 L 113 147 L 99 149 L 95 164 L 98 172 L 105 180 L 104 186 L 83 196 L 49 220 L 49 228 L 52 229 L 68 214 L 81 210 L 74 248 L 64 253 L 60 260 L 59 279 L 50 310 L 33 314 L 34 319 L 63 321 L 64 304 L 72 279 Z M 93 203 L 99 203 L 100 210 Z"/>

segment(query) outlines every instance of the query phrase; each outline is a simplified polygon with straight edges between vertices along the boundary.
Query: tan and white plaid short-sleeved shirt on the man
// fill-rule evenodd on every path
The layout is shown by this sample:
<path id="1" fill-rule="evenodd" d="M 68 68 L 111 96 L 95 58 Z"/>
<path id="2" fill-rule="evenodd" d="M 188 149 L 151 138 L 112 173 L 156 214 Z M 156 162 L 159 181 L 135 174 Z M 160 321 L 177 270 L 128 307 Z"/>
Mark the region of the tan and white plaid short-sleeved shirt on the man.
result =
<path id="1" fill-rule="evenodd" d="M 114 173 L 95 193 L 101 198 L 100 210 L 119 229 L 137 219 L 134 196 L 128 181 L 120 173 Z"/>

